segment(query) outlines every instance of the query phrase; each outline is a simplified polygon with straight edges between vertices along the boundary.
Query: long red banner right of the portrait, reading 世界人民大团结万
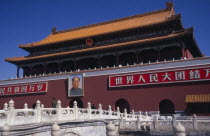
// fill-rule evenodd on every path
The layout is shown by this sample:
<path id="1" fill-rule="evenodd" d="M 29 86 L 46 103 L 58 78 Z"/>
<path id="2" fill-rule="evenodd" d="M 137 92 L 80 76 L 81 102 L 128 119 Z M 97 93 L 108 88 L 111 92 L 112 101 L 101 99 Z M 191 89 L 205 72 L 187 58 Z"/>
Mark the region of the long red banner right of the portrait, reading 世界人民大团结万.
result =
<path id="1" fill-rule="evenodd" d="M 210 80 L 210 67 L 174 71 L 145 72 L 109 77 L 109 87 Z"/>

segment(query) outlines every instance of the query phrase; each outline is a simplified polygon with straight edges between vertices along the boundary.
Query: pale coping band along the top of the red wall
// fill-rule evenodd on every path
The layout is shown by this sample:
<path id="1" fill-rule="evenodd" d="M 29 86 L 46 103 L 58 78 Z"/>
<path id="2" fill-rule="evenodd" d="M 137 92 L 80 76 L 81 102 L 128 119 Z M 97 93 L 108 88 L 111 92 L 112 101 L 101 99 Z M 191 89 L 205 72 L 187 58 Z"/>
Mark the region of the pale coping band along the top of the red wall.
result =
<path id="1" fill-rule="evenodd" d="M 172 60 L 164 62 L 145 63 L 145 64 L 140 63 L 129 66 L 119 65 L 116 67 L 101 68 L 101 69 L 99 68 L 99 69 L 90 69 L 83 71 L 57 73 L 51 75 L 15 78 L 15 79 L 1 80 L 0 85 L 68 79 L 69 75 L 76 75 L 76 74 L 83 74 L 84 77 L 92 77 L 92 76 L 116 75 L 123 73 L 144 72 L 144 71 L 153 71 L 153 70 L 157 71 L 157 70 L 177 69 L 177 68 L 186 68 L 186 67 L 199 67 L 205 65 L 206 66 L 210 65 L 210 57 Z"/>

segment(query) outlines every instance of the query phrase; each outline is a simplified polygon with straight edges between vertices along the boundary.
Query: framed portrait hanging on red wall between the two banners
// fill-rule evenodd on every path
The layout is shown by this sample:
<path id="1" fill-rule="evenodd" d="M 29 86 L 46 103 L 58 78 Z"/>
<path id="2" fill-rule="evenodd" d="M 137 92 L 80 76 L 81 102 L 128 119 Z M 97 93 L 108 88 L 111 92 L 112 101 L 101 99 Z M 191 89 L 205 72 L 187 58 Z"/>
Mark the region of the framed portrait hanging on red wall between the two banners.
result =
<path id="1" fill-rule="evenodd" d="M 73 88 L 73 79 L 78 80 L 78 78 L 79 78 L 79 86 L 77 89 L 75 89 L 75 88 Z M 69 77 L 68 77 L 68 93 L 67 94 L 68 94 L 68 97 L 82 97 L 82 96 L 84 96 L 84 74 L 69 75 Z"/>

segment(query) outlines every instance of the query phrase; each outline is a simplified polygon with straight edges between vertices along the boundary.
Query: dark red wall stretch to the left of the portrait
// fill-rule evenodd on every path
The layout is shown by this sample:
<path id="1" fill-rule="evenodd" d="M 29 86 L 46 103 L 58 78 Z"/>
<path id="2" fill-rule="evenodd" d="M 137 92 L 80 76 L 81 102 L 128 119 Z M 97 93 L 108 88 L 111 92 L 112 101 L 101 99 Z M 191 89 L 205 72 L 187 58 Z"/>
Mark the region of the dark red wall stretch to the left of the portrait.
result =
<path id="1" fill-rule="evenodd" d="M 3 108 L 5 102 L 13 100 L 15 102 L 15 108 L 23 108 L 23 104 L 27 103 L 28 107 L 31 108 L 37 100 L 40 100 L 45 107 L 51 107 L 52 98 L 55 97 L 60 99 L 62 105 L 68 105 L 68 99 L 66 95 L 67 80 L 54 80 L 48 82 L 48 92 L 37 93 L 37 94 L 25 94 L 25 95 L 11 95 L 0 98 L 0 108 Z"/>

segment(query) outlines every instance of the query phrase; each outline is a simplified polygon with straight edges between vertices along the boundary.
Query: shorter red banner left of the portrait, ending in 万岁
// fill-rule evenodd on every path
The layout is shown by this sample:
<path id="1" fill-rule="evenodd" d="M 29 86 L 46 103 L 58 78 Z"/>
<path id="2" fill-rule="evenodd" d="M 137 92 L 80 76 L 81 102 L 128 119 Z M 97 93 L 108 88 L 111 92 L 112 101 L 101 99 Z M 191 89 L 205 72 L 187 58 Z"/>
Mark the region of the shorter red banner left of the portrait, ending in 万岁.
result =
<path id="1" fill-rule="evenodd" d="M 47 82 L 0 86 L 0 96 L 47 92 Z"/>

